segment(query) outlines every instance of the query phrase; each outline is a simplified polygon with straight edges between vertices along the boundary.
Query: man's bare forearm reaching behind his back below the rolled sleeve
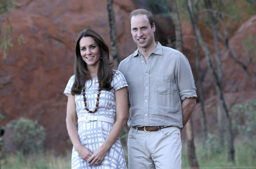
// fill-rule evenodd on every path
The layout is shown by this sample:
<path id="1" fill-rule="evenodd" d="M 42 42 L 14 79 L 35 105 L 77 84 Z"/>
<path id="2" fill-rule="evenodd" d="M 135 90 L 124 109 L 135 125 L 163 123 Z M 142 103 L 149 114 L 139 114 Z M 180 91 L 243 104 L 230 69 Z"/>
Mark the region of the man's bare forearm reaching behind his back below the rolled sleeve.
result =
<path id="1" fill-rule="evenodd" d="M 187 124 L 187 121 L 189 121 L 189 118 L 191 116 L 191 113 L 193 112 L 193 109 L 195 107 L 195 98 L 186 98 L 182 102 L 182 124 L 183 127 Z M 181 128 L 182 130 L 183 128 Z"/>

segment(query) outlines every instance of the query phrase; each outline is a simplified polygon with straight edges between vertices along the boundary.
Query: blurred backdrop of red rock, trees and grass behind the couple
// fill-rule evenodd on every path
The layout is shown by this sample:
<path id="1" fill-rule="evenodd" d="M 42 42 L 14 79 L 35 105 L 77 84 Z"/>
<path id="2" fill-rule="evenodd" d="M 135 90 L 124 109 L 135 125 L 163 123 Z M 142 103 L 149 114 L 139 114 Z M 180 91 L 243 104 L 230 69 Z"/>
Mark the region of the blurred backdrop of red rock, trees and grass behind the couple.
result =
<path id="1" fill-rule="evenodd" d="M 129 13 L 138 8 L 153 13 L 155 40 L 181 51 L 194 75 L 182 167 L 256 168 L 255 0 L 0 0 L 0 168 L 70 168 L 63 91 L 77 37 L 98 32 L 117 69 L 137 49 Z"/>

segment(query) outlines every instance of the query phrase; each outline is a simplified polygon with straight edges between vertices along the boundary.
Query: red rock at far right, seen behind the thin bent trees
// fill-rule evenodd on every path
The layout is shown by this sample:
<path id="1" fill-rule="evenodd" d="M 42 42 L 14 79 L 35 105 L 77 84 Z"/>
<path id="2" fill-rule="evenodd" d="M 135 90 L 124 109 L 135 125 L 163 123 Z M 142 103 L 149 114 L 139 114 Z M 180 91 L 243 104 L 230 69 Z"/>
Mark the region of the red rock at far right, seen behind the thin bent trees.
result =
<path id="1" fill-rule="evenodd" d="M 256 15 L 243 23 L 234 36 L 230 39 L 230 45 L 235 50 L 239 60 L 248 63 L 247 52 L 242 44 L 245 44 L 246 49 L 252 57 L 252 63 L 248 67 L 250 73 L 256 77 Z M 206 95 L 205 105 L 208 116 L 209 129 L 214 129 L 217 126 L 216 105 L 217 96 L 215 86 L 207 67 L 206 60 L 201 61 L 201 68 L 205 71 L 203 88 Z M 245 71 L 235 63 L 228 55 L 227 50 L 222 50 L 222 70 L 223 70 L 223 87 L 225 101 L 229 107 L 236 103 L 245 103 L 256 99 L 256 83 L 250 81 Z M 224 117 L 224 116 L 223 116 Z M 195 133 L 201 131 L 201 105 L 195 106 L 193 111 L 193 120 Z"/>

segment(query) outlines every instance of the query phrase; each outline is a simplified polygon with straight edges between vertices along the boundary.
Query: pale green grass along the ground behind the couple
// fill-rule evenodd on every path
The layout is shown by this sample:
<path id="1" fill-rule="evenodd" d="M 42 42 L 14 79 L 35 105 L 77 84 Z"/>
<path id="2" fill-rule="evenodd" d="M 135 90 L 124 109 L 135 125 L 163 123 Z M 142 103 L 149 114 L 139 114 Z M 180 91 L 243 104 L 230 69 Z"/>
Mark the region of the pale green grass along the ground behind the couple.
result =
<path id="1" fill-rule="evenodd" d="M 241 140 L 235 141 L 235 161 L 227 162 L 227 148 L 219 153 L 205 153 L 202 146 L 197 143 L 195 145 L 198 164 L 201 169 L 242 169 L 242 168 L 256 168 L 256 146 L 252 147 Z M 187 145 L 182 144 L 182 168 L 189 168 L 187 159 Z M 127 152 L 124 150 L 126 159 Z M 5 159 L 1 160 L 2 169 L 48 169 L 48 168 L 70 168 L 71 166 L 71 150 L 69 153 L 61 156 L 54 155 L 49 151 L 46 153 L 39 153 L 24 157 L 23 155 L 9 154 Z"/>

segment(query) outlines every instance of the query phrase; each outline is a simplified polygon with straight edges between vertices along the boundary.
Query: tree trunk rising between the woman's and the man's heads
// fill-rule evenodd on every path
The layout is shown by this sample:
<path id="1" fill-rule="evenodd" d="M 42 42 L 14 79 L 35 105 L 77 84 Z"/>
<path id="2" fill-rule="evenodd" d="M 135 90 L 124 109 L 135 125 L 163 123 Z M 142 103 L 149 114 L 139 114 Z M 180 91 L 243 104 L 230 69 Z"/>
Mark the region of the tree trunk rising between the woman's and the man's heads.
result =
<path id="1" fill-rule="evenodd" d="M 110 47 L 113 56 L 114 69 L 117 69 L 120 58 L 117 45 L 117 34 L 115 27 L 115 14 L 113 8 L 113 0 L 107 0 L 107 11 L 109 15 L 109 33 L 110 33 Z"/>

